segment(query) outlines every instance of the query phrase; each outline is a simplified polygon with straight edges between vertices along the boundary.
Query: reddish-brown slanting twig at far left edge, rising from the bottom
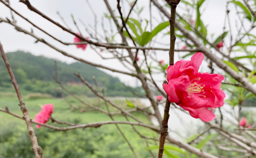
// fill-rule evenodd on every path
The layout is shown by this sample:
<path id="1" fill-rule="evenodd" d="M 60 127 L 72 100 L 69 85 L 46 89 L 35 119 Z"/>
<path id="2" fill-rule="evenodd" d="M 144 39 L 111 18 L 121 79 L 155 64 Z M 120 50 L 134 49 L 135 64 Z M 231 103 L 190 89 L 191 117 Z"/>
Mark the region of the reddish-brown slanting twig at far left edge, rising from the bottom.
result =
<path id="1" fill-rule="evenodd" d="M 34 129 L 32 127 L 32 123 L 31 123 L 32 120 L 29 118 L 29 112 L 28 112 L 27 106 L 26 106 L 26 104 L 25 104 L 25 102 L 22 98 L 22 94 L 20 93 L 20 90 L 19 90 L 18 84 L 16 82 L 15 76 L 12 72 L 11 65 L 9 64 L 9 61 L 8 61 L 6 55 L 5 55 L 5 51 L 4 51 L 4 48 L 3 48 L 3 45 L 1 44 L 1 42 L 0 42 L 0 51 L 1 51 L 1 56 L 2 56 L 2 58 L 5 62 L 5 65 L 7 67 L 7 70 L 10 74 L 12 84 L 15 88 L 16 93 L 17 93 L 20 110 L 23 113 L 23 119 L 26 121 L 27 129 L 28 129 L 28 132 L 29 132 L 29 137 L 30 137 L 32 145 L 33 145 L 32 149 L 35 152 L 36 158 L 42 158 L 42 149 L 37 143 L 37 138 L 35 136 L 35 132 L 34 132 Z"/>

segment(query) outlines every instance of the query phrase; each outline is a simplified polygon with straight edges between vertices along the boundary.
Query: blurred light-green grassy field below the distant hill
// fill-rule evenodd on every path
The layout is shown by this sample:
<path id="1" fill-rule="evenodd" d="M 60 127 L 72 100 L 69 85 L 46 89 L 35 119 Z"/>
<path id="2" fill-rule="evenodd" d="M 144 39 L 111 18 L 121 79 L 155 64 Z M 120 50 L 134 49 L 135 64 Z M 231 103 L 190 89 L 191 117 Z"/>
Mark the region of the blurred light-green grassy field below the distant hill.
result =
<path id="1" fill-rule="evenodd" d="M 92 111 L 81 113 L 79 110 L 71 110 L 70 106 L 64 99 L 44 98 L 44 99 L 26 99 L 25 103 L 28 107 L 30 118 L 41 110 L 41 105 L 46 103 L 54 103 L 54 113 L 52 117 L 60 121 L 68 121 L 72 123 L 89 123 L 111 120 L 108 115 Z M 80 96 L 82 100 L 87 101 L 95 106 L 99 106 L 97 98 L 88 98 Z M 77 100 L 68 97 L 68 100 L 74 105 L 84 109 Z M 113 100 L 121 107 L 130 109 L 126 106 L 124 100 Z M 131 100 L 136 106 L 142 106 L 139 101 Z M 22 116 L 19 110 L 18 100 L 13 93 L 0 93 L 0 107 L 8 106 L 9 110 L 15 114 Z M 102 101 L 101 106 L 105 109 Z M 114 112 L 114 108 L 111 108 Z M 145 123 L 151 124 L 145 115 L 140 112 L 133 113 L 137 118 Z M 121 115 L 115 116 L 115 120 L 125 121 Z M 32 145 L 27 133 L 26 123 L 24 120 L 17 119 L 9 114 L 0 112 L 0 158 L 4 157 L 34 157 Z M 132 119 L 131 119 L 132 121 Z M 49 121 L 47 124 L 54 126 L 65 126 Z M 44 151 L 43 157 L 134 157 L 129 146 L 118 132 L 115 125 L 103 125 L 99 128 L 74 129 L 69 131 L 55 131 L 46 127 L 35 128 L 35 134 L 38 137 L 38 143 Z M 124 135 L 128 138 L 134 147 L 138 157 L 151 157 L 146 150 L 146 143 L 138 134 L 134 132 L 131 125 L 120 125 Z M 142 135 L 157 138 L 157 134 L 147 128 L 136 127 Z M 155 145 L 152 142 L 151 145 Z M 154 150 L 156 153 L 157 150 Z"/>

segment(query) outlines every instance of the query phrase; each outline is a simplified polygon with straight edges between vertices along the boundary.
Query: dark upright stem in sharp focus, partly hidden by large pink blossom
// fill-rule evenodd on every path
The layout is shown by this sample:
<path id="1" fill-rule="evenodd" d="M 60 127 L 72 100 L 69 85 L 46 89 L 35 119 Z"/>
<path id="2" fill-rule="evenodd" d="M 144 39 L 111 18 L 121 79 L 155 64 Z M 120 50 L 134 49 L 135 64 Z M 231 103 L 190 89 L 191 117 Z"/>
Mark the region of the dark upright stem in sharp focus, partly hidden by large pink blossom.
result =
<path id="1" fill-rule="evenodd" d="M 168 5 L 170 5 L 170 51 L 169 51 L 169 65 L 174 65 L 174 49 L 175 49 L 175 16 L 176 16 L 176 8 L 180 3 L 180 0 L 165 0 Z M 166 81 L 163 84 L 168 84 Z M 164 116 L 162 125 L 160 128 L 160 138 L 159 138 L 159 150 L 158 150 L 158 158 L 163 157 L 164 150 L 164 142 L 165 138 L 168 135 L 168 120 L 169 120 L 169 109 L 170 109 L 170 101 L 168 97 L 166 98 L 165 108 L 164 108 Z"/>

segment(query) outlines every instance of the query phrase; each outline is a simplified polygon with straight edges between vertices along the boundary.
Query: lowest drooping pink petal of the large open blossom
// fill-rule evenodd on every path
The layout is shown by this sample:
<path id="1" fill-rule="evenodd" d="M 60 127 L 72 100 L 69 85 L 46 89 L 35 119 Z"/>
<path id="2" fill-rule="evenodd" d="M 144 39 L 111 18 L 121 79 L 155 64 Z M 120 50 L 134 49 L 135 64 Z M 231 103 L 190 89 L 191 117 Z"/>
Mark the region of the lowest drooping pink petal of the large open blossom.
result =
<path id="1" fill-rule="evenodd" d="M 206 108 L 192 109 L 188 107 L 182 107 L 184 110 L 189 111 L 189 114 L 194 118 L 200 118 L 204 122 L 211 121 L 216 118 L 214 113 Z"/>

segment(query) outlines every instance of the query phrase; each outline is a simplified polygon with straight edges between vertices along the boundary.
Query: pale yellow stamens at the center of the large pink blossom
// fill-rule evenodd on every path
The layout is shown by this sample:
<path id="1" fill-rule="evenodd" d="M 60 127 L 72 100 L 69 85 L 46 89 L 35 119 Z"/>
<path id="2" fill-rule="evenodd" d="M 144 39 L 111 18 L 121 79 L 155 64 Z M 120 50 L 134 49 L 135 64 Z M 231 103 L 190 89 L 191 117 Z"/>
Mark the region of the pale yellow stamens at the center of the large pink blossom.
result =
<path id="1" fill-rule="evenodd" d="M 195 78 L 194 80 L 198 80 L 200 81 L 200 77 Z M 194 80 L 192 80 L 191 82 L 193 82 Z M 203 96 L 206 97 L 205 95 L 203 95 L 205 92 L 203 90 L 204 86 L 198 85 L 196 82 L 189 84 L 189 86 L 186 88 L 187 89 L 187 93 L 189 96 L 191 96 L 192 94 L 197 94 L 198 96 Z"/>

